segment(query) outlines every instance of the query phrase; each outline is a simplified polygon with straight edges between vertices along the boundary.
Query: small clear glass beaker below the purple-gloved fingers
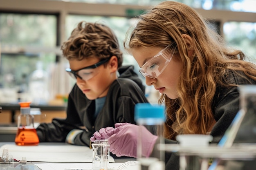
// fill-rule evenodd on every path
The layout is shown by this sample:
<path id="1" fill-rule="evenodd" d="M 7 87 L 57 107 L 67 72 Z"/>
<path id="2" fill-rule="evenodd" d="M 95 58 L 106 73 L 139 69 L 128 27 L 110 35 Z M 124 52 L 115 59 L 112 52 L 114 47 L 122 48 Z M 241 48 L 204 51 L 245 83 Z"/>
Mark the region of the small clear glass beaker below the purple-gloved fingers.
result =
<path id="1" fill-rule="evenodd" d="M 109 145 L 107 140 L 92 144 L 92 170 L 108 170 Z"/>

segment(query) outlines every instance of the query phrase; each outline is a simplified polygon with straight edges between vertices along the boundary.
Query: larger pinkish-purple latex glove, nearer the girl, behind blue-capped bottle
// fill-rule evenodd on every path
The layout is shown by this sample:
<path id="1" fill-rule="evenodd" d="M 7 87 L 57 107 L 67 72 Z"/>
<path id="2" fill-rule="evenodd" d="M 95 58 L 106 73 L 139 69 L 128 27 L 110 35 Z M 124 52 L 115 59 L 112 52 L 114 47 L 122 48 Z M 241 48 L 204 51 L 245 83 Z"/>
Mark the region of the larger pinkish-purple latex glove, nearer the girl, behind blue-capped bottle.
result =
<path id="1" fill-rule="evenodd" d="M 150 133 L 144 126 L 137 126 L 135 124 L 117 123 L 115 127 L 115 129 L 107 132 L 110 152 L 117 155 L 117 157 L 137 157 L 137 135 L 139 129 L 142 128 L 142 133 L 145 136 L 142 139 L 142 155 L 149 157 L 157 136 Z"/>

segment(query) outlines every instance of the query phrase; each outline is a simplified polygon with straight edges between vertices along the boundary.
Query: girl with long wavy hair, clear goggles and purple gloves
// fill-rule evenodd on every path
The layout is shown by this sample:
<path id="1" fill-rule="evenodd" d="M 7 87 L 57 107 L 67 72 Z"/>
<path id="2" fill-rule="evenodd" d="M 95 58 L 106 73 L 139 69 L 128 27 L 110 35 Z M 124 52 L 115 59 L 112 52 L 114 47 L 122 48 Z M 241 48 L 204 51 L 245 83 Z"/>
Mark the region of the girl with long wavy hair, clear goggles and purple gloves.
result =
<path id="1" fill-rule="evenodd" d="M 166 143 L 177 143 L 179 134 L 210 134 L 212 143 L 218 143 L 239 110 L 238 86 L 256 84 L 256 65 L 244 61 L 242 51 L 227 48 L 207 21 L 185 4 L 161 2 L 138 19 L 124 45 L 146 84 L 162 93 Z M 91 140 L 103 135 L 112 153 L 136 157 L 137 128 L 116 124 Z M 133 142 L 124 144 L 125 139 Z M 144 149 L 149 156 L 157 137 L 148 133 L 145 141 L 151 143 Z M 166 152 L 165 159 L 166 169 L 179 169 L 177 156 Z"/>

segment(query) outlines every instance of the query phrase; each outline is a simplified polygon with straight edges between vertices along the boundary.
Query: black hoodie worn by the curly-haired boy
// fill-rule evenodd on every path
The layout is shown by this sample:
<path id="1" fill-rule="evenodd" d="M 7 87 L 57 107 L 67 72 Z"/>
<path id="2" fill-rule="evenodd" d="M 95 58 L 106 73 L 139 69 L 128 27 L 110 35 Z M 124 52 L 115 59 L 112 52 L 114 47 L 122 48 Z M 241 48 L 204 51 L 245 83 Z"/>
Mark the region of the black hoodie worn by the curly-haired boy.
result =
<path id="1" fill-rule="evenodd" d="M 145 86 L 133 66 L 122 66 L 118 71 L 120 76 L 111 84 L 105 104 L 95 121 L 95 100 L 87 99 L 75 84 L 68 97 L 67 118 L 40 124 L 36 129 L 39 141 L 65 142 L 71 130 L 80 129 L 73 144 L 89 146 L 90 137 L 101 128 L 115 127 L 119 122 L 135 124 L 135 104 L 148 102 L 144 95 Z"/>

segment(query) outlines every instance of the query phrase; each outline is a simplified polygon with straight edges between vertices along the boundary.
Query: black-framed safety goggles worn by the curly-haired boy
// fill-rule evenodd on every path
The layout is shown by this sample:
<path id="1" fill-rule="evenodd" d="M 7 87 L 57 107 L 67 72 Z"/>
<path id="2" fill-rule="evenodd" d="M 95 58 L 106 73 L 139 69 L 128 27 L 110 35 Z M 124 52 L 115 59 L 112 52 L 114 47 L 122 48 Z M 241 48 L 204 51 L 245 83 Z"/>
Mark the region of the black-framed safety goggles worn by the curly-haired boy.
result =
<path id="1" fill-rule="evenodd" d="M 79 77 L 80 79 L 83 79 L 86 81 L 99 73 L 98 69 L 95 69 L 95 68 L 101 66 L 102 64 L 108 62 L 109 60 L 110 60 L 110 57 L 105 60 L 101 60 L 100 62 L 97 62 L 96 64 L 93 64 L 91 66 L 81 68 L 77 71 L 72 71 L 70 68 L 66 68 L 66 71 L 74 79 L 77 79 L 77 77 Z"/>

